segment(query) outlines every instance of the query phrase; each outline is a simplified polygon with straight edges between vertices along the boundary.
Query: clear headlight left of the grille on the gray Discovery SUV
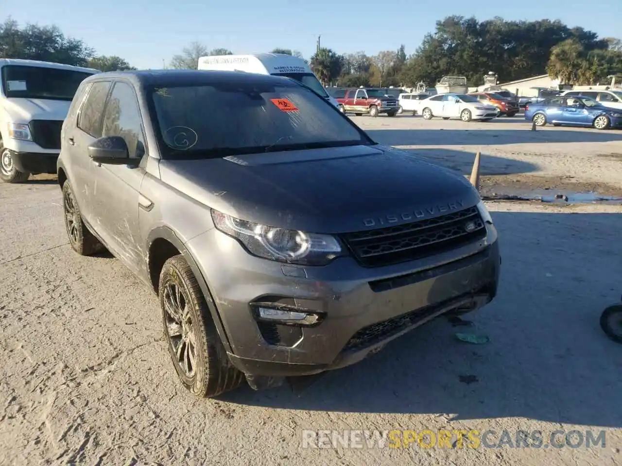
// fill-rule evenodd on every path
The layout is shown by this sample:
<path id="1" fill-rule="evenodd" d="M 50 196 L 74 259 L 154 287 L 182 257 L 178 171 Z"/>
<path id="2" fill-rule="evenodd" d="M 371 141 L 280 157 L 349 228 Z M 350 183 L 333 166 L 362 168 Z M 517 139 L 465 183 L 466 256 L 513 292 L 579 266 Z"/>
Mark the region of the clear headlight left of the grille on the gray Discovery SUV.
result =
<path id="1" fill-rule="evenodd" d="M 326 265 L 343 255 L 332 235 L 306 233 L 236 219 L 211 209 L 216 228 L 237 239 L 254 256 L 300 265 Z"/>

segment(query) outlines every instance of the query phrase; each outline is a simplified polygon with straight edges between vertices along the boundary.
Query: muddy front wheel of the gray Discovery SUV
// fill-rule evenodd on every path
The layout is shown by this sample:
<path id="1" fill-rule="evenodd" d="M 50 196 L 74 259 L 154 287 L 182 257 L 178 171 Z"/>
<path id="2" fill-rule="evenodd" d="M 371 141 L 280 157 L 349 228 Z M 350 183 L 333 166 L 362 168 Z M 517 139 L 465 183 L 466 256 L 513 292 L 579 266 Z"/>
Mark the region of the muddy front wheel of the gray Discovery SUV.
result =
<path id="1" fill-rule="evenodd" d="M 182 255 L 164 263 L 158 295 L 164 337 L 183 386 L 198 398 L 238 388 L 244 374 L 230 363 L 197 278 Z"/>

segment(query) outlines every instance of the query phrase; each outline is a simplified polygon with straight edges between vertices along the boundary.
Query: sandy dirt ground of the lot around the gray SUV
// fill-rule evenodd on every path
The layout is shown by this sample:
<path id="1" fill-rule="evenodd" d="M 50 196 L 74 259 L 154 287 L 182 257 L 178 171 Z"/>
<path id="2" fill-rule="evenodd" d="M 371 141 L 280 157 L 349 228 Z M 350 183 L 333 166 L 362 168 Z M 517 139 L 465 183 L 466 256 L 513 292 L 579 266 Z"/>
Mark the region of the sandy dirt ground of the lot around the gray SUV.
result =
<path id="1" fill-rule="evenodd" d="M 564 180 L 622 194 L 622 132 L 354 119 L 379 142 L 465 173 L 480 150 L 496 192 L 504 180 Z M 73 254 L 60 190 L 37 178 L 0 185 L 2 466 L 622 463 L 622 347 L 598 326 L 622 294 L 622 206 L 489 202 L 501 286 L 465 316 L 472 327 L 430 322 L 299 395 L 245 387 L 194 400 L 175 378 L 156 297 L 118 260 Z M 304 429 L 605 430 L 606 444 L 304 449 Z"/>

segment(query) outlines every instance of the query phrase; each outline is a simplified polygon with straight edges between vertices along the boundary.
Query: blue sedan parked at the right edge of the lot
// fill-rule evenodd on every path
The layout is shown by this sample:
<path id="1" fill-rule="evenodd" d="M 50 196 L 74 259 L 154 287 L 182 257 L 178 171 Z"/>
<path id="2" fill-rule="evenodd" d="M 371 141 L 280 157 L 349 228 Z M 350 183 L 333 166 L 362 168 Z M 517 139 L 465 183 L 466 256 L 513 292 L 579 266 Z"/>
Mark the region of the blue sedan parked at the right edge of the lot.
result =
<path id="1" fill-rule="evenodd" d="M 589 126 L 596 129 L 622 128 L 622 110 L 605 107 L 585 96 L 557 96 L 529 104 L 525 119 L 536 126 Z"/>

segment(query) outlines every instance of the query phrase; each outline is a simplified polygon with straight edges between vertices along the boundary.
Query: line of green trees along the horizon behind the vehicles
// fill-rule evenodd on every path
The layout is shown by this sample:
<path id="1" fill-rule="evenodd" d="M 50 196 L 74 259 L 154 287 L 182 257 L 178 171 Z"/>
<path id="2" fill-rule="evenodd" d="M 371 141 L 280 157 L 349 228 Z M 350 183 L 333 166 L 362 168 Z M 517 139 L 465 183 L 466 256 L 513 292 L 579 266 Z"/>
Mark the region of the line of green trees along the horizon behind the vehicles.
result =
<path id="1" fill-rule="evenodd" d="M 448 16 L 437 21 L 434 32 L 406 54 L 397 50 L 376 55 L 363 51 L 337 53 L 320 48 L 306 60 L 297 50 L 274 48 L 309 63 L 323 85 L 428 86 L 444 75 L 466 76 L 471 86 L 483 84 L 483 75 L 494 71 L 501 82 L 548 74 L 570 85 L 604 82 L 606 76 L 622 74 L 622 41 L 560 21 L 506 21 L 495 17 Z M 192 42 L 174 55 L 167 67 L 196 69 L 205 55 L 232 55 L 227 48 L 208 48 Z M 136 69 L 117 56 L 97 55 L 83 41 L 65 37 L 55 25 L 26 24 L 19 27 L 9 17 L 0 24 L 0 58 L 27 58 L 101 71 Z"/>

